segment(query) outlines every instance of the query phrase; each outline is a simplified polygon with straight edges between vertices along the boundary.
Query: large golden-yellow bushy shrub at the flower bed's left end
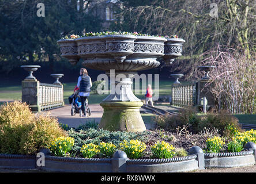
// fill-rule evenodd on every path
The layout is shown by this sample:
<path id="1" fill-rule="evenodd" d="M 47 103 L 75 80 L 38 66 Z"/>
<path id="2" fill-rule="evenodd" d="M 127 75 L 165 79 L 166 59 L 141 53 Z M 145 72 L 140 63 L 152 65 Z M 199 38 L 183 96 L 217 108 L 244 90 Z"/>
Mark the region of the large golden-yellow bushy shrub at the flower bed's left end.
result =
<path id="1" fill-rule="evenodd" d="M 60 136 L 66 136 L 56 118 L 35 116 L 25 103 L 14 101 L 0 107 L 0 152 L 35 154 Z"/>

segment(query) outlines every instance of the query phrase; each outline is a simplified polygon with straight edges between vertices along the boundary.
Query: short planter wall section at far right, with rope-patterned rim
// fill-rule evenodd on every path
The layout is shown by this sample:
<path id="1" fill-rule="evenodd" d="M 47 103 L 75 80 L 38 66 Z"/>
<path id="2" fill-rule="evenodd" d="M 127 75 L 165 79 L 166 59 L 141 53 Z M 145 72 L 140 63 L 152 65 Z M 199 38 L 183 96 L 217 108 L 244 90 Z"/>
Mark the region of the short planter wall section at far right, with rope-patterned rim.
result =
<path id="1" fill-rule="evenodd" d="M 244 167 L 255 164 L 253 150 L 205 154 L 205 168 L 228 168 L 228 167 Z"/>

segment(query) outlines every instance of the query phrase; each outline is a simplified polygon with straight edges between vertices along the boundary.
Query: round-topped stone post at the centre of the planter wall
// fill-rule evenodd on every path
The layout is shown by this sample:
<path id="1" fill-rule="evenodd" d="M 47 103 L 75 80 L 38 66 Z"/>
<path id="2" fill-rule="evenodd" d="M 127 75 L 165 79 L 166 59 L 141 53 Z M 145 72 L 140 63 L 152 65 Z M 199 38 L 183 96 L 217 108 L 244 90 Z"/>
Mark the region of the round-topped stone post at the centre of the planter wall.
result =
<path id="1" fill-rule="evenodd" d="M 116 151 L 112 158 L 112 172 L 126 173 L 126 160 L 129 160 L 129 158 L 127 158 L 127 155 L 124 151 Z"/>

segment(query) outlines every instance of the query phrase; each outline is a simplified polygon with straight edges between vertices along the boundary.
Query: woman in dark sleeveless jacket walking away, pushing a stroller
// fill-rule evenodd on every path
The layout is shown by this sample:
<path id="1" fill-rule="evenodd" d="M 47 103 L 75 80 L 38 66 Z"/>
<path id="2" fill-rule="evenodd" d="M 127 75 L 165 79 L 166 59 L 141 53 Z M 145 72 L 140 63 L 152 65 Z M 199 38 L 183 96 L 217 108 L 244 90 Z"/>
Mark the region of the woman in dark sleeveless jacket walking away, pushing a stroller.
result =
<path id="1" fill-rule="evenodd" d="M 80 98 L 81 98 L 81 103 L 82 103 L 82 113 L 84 116 L 86 116 L 85 113 L 85 101 L 87 97 L 90 95 L 91 87 L 92 87 L 92 79 L 88 75 L 88 72 L 85 68 L 80 69 L 80 76 L 78 77 L 78 82 L 77 82 L 77 87 L 80 88 Z"/>

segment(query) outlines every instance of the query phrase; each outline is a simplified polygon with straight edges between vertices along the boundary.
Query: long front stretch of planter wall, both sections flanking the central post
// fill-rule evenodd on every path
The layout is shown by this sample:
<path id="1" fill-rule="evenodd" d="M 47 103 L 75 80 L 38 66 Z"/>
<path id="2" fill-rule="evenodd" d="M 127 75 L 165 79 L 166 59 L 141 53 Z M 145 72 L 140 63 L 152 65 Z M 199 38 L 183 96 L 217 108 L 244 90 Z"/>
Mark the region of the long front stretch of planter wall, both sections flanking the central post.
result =
<path id="1" fill-rule="evenodd" d="M 121 156 L 111 159 L 63 158 L 46 156 L 45 171 L 85 173 L 176 173 L 198 169 L 196 155 L 171 159 L 135 159 Z"/>

